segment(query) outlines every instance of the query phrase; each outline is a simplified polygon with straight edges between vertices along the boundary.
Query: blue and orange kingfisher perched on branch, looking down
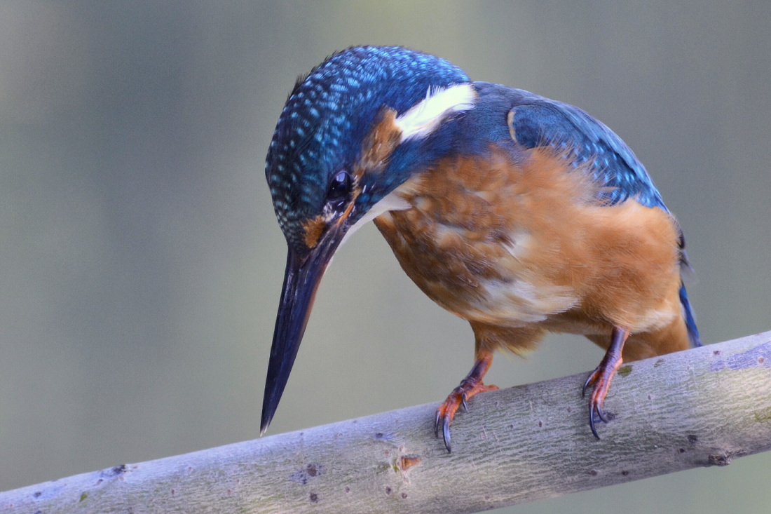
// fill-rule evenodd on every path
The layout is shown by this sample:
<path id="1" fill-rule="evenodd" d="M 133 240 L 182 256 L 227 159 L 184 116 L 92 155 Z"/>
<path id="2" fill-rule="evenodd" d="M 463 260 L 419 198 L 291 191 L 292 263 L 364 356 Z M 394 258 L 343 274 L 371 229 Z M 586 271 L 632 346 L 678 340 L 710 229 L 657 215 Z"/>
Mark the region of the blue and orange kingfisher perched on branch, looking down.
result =
<path id="1" fill-rule="evenodd" d="M 701 345 L 678 222 L 624 141 L 567 103 L 401 46 L 352 47 L 297 80 L 265 175 L 288 258 L 261 434 L 332 255 L 368 221 L 471 324 L 473 367 L 436 409 L 447 451 L 459 408 L 497 389 L 483 382 L 495 350 L 525 353 L 548 332 L 604 348 L 581 390 L 599 438 L 622 360 Z"/>

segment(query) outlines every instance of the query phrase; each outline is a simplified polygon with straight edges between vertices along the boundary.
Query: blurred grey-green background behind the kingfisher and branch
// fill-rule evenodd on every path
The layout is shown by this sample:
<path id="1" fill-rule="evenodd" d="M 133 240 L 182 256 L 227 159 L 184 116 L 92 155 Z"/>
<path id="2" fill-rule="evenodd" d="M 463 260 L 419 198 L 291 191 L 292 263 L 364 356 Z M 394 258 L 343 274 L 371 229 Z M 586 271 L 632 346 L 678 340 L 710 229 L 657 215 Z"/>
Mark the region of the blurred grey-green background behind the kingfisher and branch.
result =
<path id="1" fill-rule="evenodd" d="M 771 330 L 769 26 L 764 1 L 0 3 L 0 490 L 258 436 L 285 256 L 264 156 L 295 77 L 355 44 L 603 120 L 685 229 L 705 342 Z M 488 381 L 601 356 L 554 336 Z M 363 228 L 271 433 L 441 401 L 472 357 Z M 768 512 L 769 478 L 756 455 L 516 512 Z"/>

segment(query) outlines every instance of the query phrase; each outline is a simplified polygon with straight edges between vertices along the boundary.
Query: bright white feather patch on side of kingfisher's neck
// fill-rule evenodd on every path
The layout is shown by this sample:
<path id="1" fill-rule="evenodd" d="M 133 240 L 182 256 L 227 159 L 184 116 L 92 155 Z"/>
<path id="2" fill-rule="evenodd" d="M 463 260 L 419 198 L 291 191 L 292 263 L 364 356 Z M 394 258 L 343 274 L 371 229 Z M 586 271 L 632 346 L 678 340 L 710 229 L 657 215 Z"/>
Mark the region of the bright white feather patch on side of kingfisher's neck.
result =
<path id="1" fill-rule="evenodd" d="M 430 88 L 426 98 L 396 118 L 396 126 L 402 130 L 402 142 L 416 137 L 423 139 L 436 130 L 449 113 L 473 108 L 474 100 L 476 91 L 470 83 Z"/>

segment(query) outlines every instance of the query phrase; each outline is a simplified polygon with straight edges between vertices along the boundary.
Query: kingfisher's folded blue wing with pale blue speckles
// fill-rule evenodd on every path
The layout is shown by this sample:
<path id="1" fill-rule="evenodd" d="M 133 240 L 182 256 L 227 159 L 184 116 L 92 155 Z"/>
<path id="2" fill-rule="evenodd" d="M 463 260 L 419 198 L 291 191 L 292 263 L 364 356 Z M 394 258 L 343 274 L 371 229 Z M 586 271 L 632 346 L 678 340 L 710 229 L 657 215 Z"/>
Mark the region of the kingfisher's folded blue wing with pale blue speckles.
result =
<path id="1" fill-rule="evenodd" d="M 645 167 L 635 153 L 598 120 L 578 107 L 513 90 L 511 128 L 517 143 L 527 148 L 552 146 L 574 158 L 574 166 L 588 164 L 604 187 L 601 200 L 613 205 L 628 198 L 647 207 L 667 210 Z"/>

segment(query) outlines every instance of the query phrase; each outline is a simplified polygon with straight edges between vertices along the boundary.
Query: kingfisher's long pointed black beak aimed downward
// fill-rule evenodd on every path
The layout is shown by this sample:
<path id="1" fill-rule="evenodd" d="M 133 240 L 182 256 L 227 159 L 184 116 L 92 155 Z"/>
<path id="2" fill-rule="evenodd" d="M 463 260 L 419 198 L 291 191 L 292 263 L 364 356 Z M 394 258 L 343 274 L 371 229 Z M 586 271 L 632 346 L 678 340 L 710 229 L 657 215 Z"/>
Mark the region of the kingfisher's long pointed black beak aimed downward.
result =
<path id="1" fill-rule="evenodd" d="M 344 219 L 334 222 L 305 257 L 299 257 L 289 249 L 284 286 L 281 288 L 281 303 L 278 306 L 273 332 L 271 360 L 268 362 L 268 377 L 265 380 L 260 435 L 268 429 L 278 401 L 281 400 L 292 364 L 295 364 L 305 326 L 308 324 L 318 284 L 322 281 L 332 255 L 342 242 L 344 227 Z"/>

